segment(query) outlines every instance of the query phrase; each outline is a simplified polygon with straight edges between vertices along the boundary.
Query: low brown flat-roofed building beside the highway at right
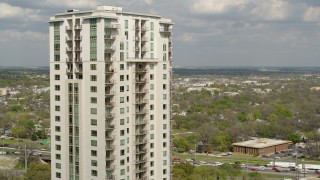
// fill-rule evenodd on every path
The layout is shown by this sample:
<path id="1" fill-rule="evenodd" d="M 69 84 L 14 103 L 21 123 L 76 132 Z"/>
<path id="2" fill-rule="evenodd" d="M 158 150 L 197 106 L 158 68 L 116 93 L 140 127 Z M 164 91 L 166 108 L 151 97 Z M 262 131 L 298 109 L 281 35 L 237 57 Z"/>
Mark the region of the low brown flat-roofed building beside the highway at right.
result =
<path id="1" fill-rule="evenodd" d="M 233 152 L 250 155 L 275 154 L 276 152 L 287 151 L 291 141 L 259 138 L 244 142 L 233 143 Z"/>

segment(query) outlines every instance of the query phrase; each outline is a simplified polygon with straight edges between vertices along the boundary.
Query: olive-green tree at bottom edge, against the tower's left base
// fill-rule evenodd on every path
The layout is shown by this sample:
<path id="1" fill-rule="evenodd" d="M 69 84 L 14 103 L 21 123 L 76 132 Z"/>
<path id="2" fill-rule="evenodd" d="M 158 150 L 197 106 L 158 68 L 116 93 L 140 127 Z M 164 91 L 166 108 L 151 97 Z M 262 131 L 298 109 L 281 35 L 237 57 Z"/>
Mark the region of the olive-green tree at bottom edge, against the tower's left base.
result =
<path id="1" fill-rule="evenodd" d="M 51 179 L 50 165 L 43 163 L 30 164 L 25 175 L 26 180 L 48 180 Z"/>

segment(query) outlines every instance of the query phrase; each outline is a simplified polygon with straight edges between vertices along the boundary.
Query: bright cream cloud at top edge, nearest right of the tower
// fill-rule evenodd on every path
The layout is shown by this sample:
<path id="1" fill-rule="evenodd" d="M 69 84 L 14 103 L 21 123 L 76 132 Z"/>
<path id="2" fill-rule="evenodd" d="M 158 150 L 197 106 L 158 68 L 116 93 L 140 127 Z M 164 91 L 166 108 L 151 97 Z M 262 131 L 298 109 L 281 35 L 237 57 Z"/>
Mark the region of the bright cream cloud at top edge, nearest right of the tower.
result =
<path id="1" fill-rule="evenodd" d="M 198 0 L 191 9 L 200 14 L 223 14 L 231 8 L 241 8 L 250 0 Z"/>

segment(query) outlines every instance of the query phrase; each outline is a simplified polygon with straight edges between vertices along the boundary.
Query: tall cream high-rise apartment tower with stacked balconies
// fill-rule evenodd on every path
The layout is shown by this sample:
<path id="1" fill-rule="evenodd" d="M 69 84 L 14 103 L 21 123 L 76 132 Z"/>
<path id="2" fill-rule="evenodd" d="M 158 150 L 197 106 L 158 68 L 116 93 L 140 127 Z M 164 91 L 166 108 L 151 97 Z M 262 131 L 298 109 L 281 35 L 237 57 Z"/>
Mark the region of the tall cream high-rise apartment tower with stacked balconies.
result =
<path id="1" fill-rule="evenodd" d="M 52 179 L 169 180 L 171 20 L 98 6 L 49 24 Z"/>

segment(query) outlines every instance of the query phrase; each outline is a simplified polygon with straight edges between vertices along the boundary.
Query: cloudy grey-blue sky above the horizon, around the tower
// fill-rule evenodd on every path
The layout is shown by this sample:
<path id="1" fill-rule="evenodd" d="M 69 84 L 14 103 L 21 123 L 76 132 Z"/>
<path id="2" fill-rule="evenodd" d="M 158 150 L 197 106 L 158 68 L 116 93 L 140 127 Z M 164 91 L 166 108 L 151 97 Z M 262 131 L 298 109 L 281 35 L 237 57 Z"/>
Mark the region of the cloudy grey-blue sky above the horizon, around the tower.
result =
<path id="1" fill-rule="evenodd" d="M 97 5 L 171 18 L 174 66 L 320 66 L 320 0 L 1 0 L 0 66 L 48 66 L 48 19 Z"/>

